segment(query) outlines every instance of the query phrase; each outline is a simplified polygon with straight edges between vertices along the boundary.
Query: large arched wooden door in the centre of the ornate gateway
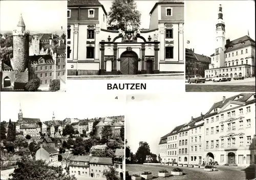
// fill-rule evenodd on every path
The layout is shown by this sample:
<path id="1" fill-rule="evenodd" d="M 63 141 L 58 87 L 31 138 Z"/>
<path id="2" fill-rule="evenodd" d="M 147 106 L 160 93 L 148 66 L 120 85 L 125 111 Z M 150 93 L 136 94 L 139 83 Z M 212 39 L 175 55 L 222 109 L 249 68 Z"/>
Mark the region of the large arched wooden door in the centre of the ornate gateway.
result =
<path id="1" fill-rule="evenodd" d="M 122 74 L 138 73 L 138 55 L 135 52 L 123 52 L 120 59 L 120 71 Z"/>

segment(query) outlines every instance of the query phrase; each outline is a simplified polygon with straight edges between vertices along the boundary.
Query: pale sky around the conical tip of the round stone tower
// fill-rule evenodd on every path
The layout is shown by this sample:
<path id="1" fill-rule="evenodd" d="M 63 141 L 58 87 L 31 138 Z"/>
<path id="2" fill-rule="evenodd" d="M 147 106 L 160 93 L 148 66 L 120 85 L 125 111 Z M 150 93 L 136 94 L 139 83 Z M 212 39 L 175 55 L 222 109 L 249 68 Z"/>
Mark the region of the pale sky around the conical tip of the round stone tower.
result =
<path id="1" fill-rule="evenodd" d="M 66 31 L 67 1 L 65 0 L 0 1 L 0 30 L 16 29 L 20 13 L 22 13 L 26 30 Z"/>

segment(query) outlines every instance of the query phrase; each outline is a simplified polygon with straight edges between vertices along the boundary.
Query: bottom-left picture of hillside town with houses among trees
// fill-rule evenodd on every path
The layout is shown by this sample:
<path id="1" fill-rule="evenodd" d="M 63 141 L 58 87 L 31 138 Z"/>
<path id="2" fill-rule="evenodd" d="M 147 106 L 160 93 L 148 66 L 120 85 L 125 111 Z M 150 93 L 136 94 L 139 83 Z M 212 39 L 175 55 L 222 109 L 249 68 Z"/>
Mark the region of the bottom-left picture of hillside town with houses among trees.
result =
<path id="1" fill-rule="evenodd" d="M 2 180 L 124 179 L 125 95 L 67 95 L 1 95 Z"/>

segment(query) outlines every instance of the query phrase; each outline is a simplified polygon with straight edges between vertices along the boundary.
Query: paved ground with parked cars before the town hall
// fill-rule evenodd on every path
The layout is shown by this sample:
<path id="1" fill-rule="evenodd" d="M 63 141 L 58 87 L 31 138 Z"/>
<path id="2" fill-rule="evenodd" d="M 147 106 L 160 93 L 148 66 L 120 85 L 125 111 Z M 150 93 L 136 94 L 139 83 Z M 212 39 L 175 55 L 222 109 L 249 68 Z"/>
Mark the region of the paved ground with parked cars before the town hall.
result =
<path id="1" fill-rule="evenodd" d="M 195 84 L 186 83 L 186 92 L 255 92 L 255 79 L 231 80 L 228 82 L 212 82 Z"/>

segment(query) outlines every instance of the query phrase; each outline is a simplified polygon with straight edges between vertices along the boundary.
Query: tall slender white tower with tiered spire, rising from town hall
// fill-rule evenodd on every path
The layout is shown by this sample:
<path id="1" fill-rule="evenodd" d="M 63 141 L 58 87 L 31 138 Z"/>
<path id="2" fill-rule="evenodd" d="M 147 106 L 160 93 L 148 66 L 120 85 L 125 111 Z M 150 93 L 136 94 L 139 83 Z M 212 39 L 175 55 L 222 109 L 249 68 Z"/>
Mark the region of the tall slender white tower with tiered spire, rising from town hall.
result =
<path id="1" fill-rule="evenodd" d="M 216 49 L 214 68 L 225 66 L 225 23 L 223 21 L 222 6 L 219 7 L 218 23 L 216 24 Z M 218 74 L 219 75 L 219 74 Z"/>

